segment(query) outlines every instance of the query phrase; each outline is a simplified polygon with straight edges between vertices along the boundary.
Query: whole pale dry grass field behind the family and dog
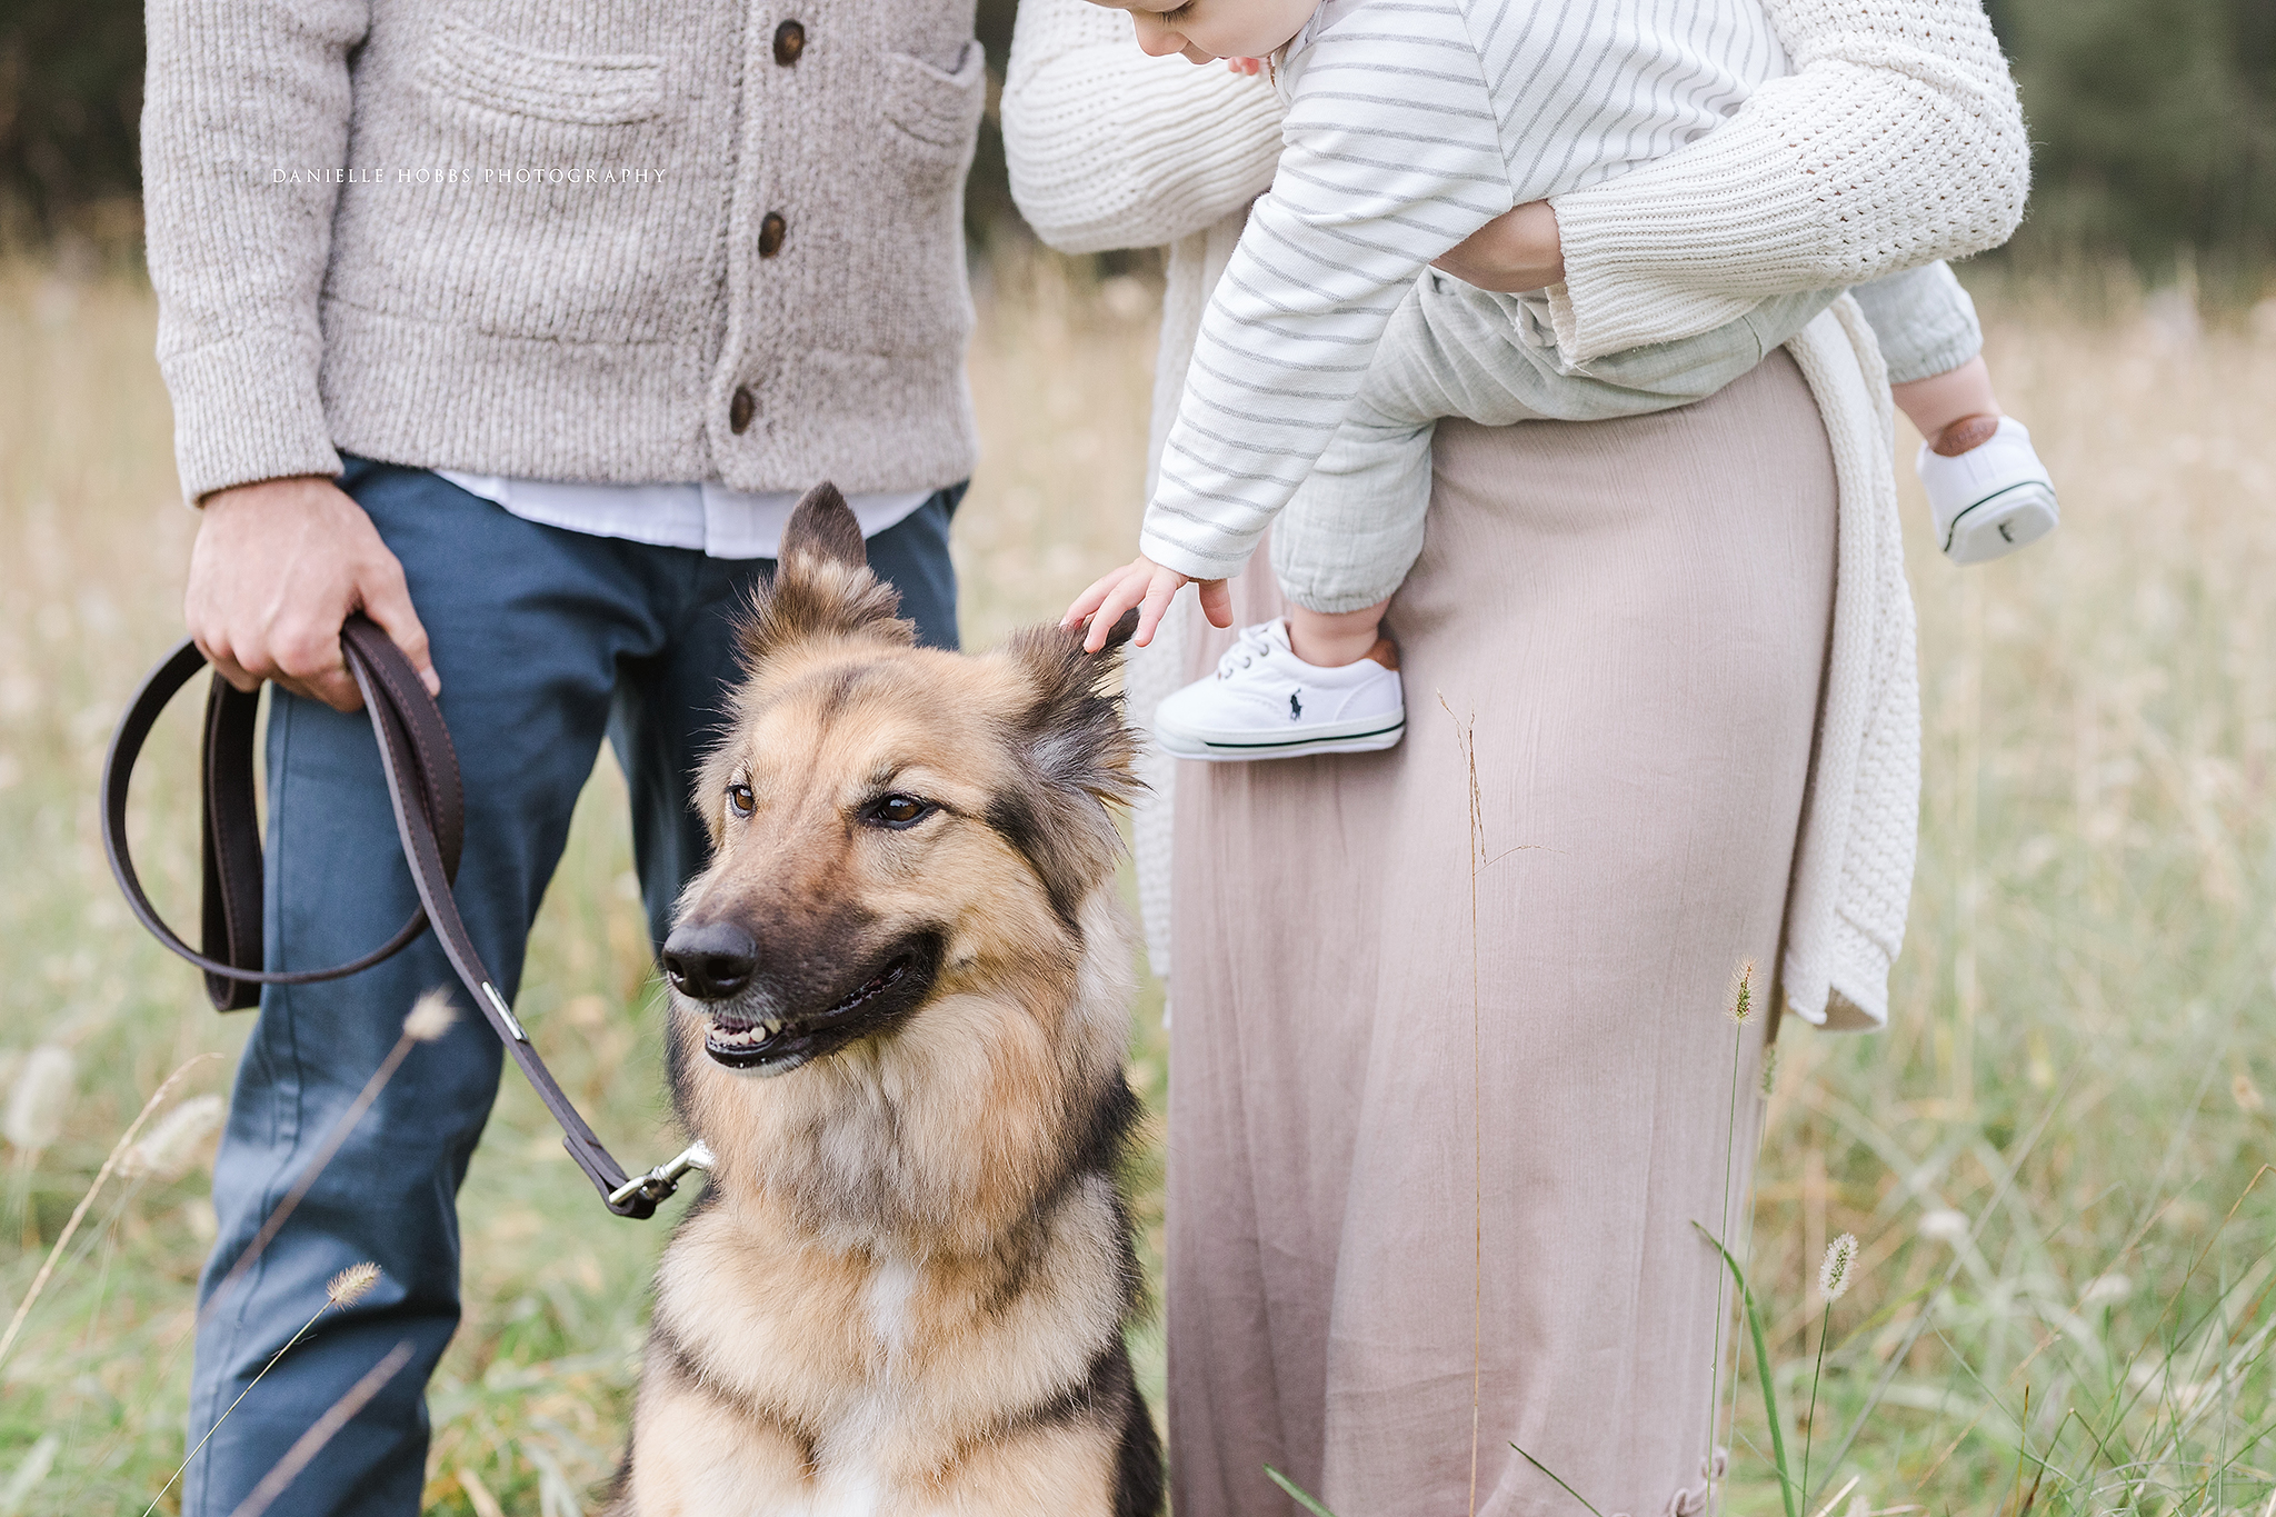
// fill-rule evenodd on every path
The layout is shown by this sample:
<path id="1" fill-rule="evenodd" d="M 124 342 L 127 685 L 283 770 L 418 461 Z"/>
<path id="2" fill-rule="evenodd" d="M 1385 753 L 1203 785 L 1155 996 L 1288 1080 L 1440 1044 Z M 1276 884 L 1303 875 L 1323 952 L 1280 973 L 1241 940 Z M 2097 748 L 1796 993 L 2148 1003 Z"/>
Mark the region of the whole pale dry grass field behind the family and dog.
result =
<path id="1" fill-rule="evenodd" d="M 1040 264 L 992 291 L 958 521 L 972 644 L 1124 550 L 1152 350 L 1145 284 Z M 1862 1240 L 1823 1342 L 1812 1510 L 1850 1476 L 1837 1512 L 2276 1510 L 2276 1176 L 2253 1185 L 2276 1160 L 2276 343 L 2092 296 L 1987 302 L 2064 530 L 1962 573 L 1907 500 L 1928 746 L 1894 1028 L 1782 1039 L 1753 1278 L 1796 1453 L 1819 1258 Z M 178 635 L 193 528 L 152 321 L 132 275 L 0 268 L 0 1315 L 150 1092 L 198 1053 L 225 1058 L 178 1094 L 225 1092 L 246 1028 L 132 926 L 96 835 L 102 744 Z M 178 921 L 191 728 L 159 735 L 137 810 Z M 649 1162 L 671 1135 L 619 812 L 603 760 L 521 1012 L 603 1139 Z M 1158 992 L 1133 1026 L 1158 1110 Z M 109 1180 L 0 1362 L 0 1517 L 139 1512 L 182 1458 L 207 1155 L 191 1133 Z M 587 1510 L 665 1233 L 599 1217 L 512 1073 L 462 1210 L 430 1510 Z M 1152 1255 L 1158 1194 L 1143 1210 Z M 1158 1376 L 1156 1335 L 1140 1356 Z M 1780 1510 L 1753 1365 L 1734 1442 L 1727 1508 Z"/>

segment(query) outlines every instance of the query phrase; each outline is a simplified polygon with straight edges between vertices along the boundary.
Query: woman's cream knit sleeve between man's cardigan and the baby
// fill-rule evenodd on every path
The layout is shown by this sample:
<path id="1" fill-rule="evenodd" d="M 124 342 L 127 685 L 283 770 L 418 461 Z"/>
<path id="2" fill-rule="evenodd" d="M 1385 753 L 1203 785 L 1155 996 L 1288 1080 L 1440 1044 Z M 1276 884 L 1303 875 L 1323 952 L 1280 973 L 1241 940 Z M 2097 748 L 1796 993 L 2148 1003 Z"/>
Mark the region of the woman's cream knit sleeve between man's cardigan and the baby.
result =
<path id="1" fill-rule="evenodd" d="M 1004 77 L 1011 193 L 1061 252 L 1154 248 L 1272 184 L 1279 98 L 1261 77 L 1147 57 L 1088 0 L 1022 0 Z"/>

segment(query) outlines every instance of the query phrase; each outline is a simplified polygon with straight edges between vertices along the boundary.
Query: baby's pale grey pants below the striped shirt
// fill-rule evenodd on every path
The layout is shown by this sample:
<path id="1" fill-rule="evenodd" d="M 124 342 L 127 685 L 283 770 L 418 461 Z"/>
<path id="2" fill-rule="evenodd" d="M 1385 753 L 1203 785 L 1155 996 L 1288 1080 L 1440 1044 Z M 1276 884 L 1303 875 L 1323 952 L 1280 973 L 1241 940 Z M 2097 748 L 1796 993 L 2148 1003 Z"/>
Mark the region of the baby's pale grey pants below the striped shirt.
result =
<path id="1" fill-rule="evenodd" d="M 1976 307 L 1944 264 L 1857 293 L 1894 380 L 1946 373 L 1982 346 Z M 1281 591 L 1313 612 L 1356 612 L 1391 598 L 1422 553 L 1441 416 L 1500 428 L 1691 405 L 1753 371 L 1839 296 L 1771 296 L 1714 332 L 1573 368 L 1557 353 L 1539 298 L 1498 296 L 1425 268 L 1391 316 L 1327 453 L 1272 525 Z"/>

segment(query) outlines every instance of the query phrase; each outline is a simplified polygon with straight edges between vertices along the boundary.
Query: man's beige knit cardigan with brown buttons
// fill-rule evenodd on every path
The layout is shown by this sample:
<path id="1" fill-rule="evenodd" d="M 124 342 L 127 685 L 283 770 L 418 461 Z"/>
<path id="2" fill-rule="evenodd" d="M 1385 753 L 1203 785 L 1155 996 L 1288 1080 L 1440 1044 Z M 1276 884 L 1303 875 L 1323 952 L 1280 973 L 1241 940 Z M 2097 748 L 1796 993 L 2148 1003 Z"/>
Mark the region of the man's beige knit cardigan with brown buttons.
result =
<path id="1" fill-rule="evenodd" d="M 150 0 L 184 491 L 339 453 L 938 489 L 976 455 L 974 0 Z"/>

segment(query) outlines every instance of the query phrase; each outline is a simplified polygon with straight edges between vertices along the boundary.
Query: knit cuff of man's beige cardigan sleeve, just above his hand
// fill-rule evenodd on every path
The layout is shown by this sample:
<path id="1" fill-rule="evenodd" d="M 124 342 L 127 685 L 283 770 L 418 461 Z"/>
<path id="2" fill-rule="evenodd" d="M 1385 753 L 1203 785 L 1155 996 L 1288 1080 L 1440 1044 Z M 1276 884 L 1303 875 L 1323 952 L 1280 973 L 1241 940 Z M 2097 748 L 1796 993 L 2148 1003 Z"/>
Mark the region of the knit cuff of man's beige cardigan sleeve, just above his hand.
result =
<path id="1" fill-rule="evenodd" d="M 182 496 L 339 473 L 323 418 L 314 332 L 259 330 L 159 359 L 173 396 L 173 455 Z"/>

